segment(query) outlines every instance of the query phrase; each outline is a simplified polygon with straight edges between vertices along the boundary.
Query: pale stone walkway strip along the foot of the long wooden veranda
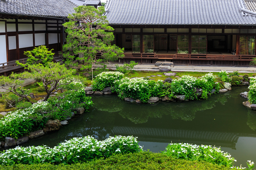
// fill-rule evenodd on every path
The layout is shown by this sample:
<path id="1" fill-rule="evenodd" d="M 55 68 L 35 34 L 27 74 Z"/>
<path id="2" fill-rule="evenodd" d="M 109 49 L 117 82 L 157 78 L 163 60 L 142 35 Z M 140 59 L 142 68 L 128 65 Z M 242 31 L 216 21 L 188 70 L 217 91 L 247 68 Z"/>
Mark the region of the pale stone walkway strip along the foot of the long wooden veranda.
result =
<path id="1" fill-rule="evenodd" d="M 107 64 L 108 68 L 116 70 L 116 64 Z M 122 65 L 122 64 L 118 64 Z M 96 68 L 102 67 L 101 65 L 96 65 Z M 138 71 L 159 71 L 159 68 L 154 64 L 137 64 L 133 68 Z M 184 65 L 174 65 L 171 71 L 198 71 L 198 72 L 220 72 L 221 70 L 226 70 L 227 72 L 239 71 L 241 73 L 256 72 L 256 67 L 230 67 L 230 66 L 184 66 Z"/>

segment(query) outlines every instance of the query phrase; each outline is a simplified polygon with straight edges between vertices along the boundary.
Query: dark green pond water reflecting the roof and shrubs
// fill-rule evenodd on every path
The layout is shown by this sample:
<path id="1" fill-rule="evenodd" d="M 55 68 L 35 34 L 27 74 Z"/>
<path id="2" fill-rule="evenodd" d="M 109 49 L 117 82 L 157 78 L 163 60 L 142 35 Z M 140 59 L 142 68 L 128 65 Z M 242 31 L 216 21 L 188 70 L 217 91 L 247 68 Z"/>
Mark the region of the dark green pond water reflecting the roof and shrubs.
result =
<path id="1" fill-rule="evenodd" d="M 23 146 L 50 147 L 73 137 L 138 137 L 143 150 L 163 151 L 168 143 L 220 146 L 237 162 L 256 161 L 256 111 L 242 105 L 247 87 L 209 96 L 208 100 L 137 104 L 116 95 L 92 96 L 94 107 L 57 132 L 29 140 Z"/>

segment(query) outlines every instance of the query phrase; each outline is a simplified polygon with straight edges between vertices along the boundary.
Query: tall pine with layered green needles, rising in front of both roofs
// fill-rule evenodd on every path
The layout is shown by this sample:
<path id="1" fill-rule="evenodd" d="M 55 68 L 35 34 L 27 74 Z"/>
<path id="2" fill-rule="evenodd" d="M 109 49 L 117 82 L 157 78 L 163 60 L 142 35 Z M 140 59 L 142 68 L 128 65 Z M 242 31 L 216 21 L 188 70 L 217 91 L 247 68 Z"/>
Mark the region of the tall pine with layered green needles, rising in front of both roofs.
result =
<path id="1" fill-rule="evenodd" d="M 66 58 L 66 64 L 76 65 L 80 60 L 84 63 L 82 70 L 92 68 L 92 64 L 107 62 L 123 57 L 124 49 L 111 45 L 114 40 L 114 29 L 108 26 L 108 20 L 104 16 L 105 9 L 100 6 L 99 9 L 93 6 L 78 6 L 76 13 L 69 14 L 69 22 L 63 24 L 67 27 L 67 44 L 63 45 L 63 57 Z M 96 58 L 100 53 L 101 57 Z M 78 54 L 81 56 L 78 57 Z"/>

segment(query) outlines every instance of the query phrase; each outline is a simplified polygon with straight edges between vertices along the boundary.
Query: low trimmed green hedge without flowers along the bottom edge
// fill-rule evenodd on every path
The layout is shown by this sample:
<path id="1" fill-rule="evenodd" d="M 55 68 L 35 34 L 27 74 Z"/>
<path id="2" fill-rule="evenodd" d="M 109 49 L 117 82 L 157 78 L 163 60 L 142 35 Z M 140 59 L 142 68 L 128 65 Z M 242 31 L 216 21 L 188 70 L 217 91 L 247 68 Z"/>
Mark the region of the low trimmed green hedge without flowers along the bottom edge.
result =
<path id="1" fill-rule="evenodd" d="M 161 153 L 138 152 L 129 154 L 116 154 L 107 159 L 98 159 L 87 163 L 73 165 L 53 165 L 49 163 L 34 165 L 0 166 L 0 170 L 95 170 L 95 169 L 118 169 L 118 170 L 230 170 L 225 166 L 213 165 L 204 161 L 188 161 L 174 159 Z"/>

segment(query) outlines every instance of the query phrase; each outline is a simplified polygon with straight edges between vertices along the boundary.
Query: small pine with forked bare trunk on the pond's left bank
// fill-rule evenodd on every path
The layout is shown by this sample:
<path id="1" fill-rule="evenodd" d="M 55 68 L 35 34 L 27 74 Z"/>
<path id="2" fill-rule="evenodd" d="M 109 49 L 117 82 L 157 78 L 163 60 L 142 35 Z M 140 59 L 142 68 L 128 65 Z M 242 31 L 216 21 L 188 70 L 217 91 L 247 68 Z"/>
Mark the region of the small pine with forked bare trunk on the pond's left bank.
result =
<path id="1" fill-rule="evenodd" d="M 64 65 L 60 63 L 48 63 L 47 67 L 43 65 L 28 65 L 28 69 L 31 73 L 27 73 L 34 79 L 39 79 L 43 82 L 43 86 L 47 95 L 43 101 L 46 101 L 54 91 L 62 90 L 62 85 L 68 85 L 73 79 L 65 81 L 65 83 L 60 83 L 60 80 L 70 78 L 76 72 L 73 69 L 67 69 Z"/>

